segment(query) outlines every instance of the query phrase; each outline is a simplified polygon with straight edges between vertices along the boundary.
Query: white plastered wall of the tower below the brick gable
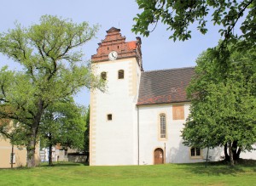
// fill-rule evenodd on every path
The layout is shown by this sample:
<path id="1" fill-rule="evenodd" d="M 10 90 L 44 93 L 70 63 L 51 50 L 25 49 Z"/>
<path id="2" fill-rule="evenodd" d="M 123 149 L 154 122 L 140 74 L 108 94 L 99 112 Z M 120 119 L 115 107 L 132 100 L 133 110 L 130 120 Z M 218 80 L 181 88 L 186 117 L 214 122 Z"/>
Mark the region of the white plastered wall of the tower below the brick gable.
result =
<path id="1" fill-rule="evenodd" d="M 137 90 L 140 70 L 136 59 L 93 64 L 94 73 L 107 72 L 107 91 L 90 93 L 90 165 L 137 164 Z M 125 78 L 118 79 L 118 71 Z M 113 119 L 108 121 L 107 115 Z"/>

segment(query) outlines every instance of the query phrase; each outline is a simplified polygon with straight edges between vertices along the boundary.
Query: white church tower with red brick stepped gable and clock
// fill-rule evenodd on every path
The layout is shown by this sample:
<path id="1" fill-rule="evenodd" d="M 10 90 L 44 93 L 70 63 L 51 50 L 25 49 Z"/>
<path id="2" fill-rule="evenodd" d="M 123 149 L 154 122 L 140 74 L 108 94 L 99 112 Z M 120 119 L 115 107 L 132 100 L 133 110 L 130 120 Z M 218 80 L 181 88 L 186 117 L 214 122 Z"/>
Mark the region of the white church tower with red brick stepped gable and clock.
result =
<path id="1" fill-rule="evenodd" d="M 141 39 L 125 42 L 112 27 L 92 55 L 92 69 L 106 81 L 105 93 L 90 93 L 90 166 L 137 165 L 137 96 Z"/>

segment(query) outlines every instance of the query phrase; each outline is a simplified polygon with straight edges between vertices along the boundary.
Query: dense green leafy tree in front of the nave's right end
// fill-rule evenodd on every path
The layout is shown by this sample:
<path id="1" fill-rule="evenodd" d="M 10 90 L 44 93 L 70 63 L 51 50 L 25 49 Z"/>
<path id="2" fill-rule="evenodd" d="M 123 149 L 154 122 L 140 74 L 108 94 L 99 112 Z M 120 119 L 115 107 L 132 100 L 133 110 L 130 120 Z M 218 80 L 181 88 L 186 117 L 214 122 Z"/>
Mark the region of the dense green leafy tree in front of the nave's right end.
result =
<path id="1" fill-rule="evenodd" d="M 219 69 L 215 50 L 208 49 L 197 59 L 182 136 L 189 146 L 225 147 L 225 157 L 234 165 L 233 159 L 256 143 L 256 53 L 255 48 L 239 53 L 230 47 L 230 51 L 226 73 Z"/>

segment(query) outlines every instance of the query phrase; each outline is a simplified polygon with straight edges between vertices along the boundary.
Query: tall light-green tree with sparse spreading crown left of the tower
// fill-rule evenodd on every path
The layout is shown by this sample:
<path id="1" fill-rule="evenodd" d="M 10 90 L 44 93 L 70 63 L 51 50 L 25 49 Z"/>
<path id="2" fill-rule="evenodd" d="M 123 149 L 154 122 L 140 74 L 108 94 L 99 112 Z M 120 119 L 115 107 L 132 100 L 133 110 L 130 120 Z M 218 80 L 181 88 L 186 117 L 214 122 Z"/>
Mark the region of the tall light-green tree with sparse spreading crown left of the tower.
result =
<path id="1" fill-rule="evenodd" d="M 2 33 L 0 52 L 21 65 L 0 74 L 0 118 L 25 125 L 27 166 L 35 166 L 35 145 L 44 110 L 82 87 L 101 87 L 78 49 L 95 36 L 97 25 L 75 24 L 44 15 L 39 24 Z M 7 109 L 8 108 L 8 109 Z"/>

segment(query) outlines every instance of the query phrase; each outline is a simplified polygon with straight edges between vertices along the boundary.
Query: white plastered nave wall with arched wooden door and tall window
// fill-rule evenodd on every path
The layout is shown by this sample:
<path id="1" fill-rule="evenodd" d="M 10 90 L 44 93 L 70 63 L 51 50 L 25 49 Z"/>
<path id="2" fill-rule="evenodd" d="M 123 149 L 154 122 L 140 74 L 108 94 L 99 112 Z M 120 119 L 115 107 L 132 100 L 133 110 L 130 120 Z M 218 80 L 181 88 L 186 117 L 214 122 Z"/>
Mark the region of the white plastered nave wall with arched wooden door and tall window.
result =
<path id="1" fill-rule="evenodd" d="M 184 118 L 189 116 L 189 103 L 184 105 Z M 160 138 L 161 113 L 166 114 L 166 139 Z M 164 150 L 166 163 L 189 163 L 205 161 L 207 149 L 202 149 L 202 156 L 198 159 L 190 157 L 190 148 L 183 145 L 181 131 L 185 120 L 172 119 L 172 104 L 152 104 L 139 106 L 139 142 L 140 142 L 140 165 L 154 164 L 154 149 Z M 209 156 L 218 155 L 220 150 L 209 150 Z"/>

